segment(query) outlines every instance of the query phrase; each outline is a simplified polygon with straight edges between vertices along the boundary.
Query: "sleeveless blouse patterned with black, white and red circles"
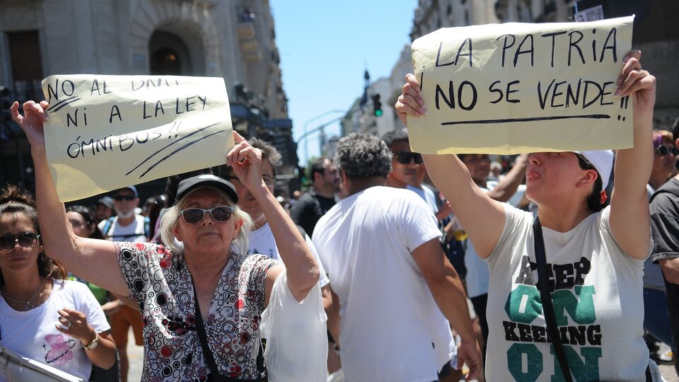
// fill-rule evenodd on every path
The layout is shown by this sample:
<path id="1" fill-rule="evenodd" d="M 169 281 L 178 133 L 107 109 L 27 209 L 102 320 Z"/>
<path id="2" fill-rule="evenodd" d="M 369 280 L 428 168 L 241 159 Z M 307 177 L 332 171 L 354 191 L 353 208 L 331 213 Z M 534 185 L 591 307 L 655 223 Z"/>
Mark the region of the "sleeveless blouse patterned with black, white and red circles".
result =
<path id="1" fill-rule="evenodd" d="M 183 257 L 153 243 L 116 242 L 115 251 L 144 318 L 141 380 L 205 381 L 209 367 L 195 328 L 193 282 Z M 257 376 L 265 279 L 277 264 L 264 255 L 233 254 L 221 273 L 204 325 L 224 376 Z"/>

